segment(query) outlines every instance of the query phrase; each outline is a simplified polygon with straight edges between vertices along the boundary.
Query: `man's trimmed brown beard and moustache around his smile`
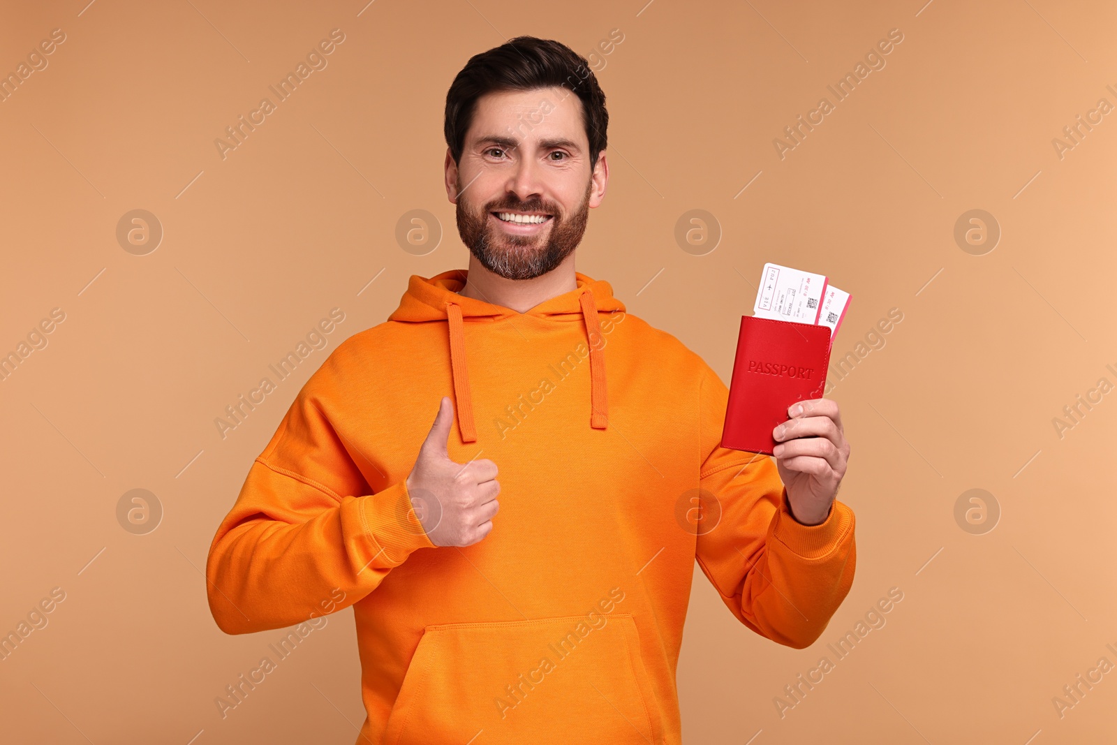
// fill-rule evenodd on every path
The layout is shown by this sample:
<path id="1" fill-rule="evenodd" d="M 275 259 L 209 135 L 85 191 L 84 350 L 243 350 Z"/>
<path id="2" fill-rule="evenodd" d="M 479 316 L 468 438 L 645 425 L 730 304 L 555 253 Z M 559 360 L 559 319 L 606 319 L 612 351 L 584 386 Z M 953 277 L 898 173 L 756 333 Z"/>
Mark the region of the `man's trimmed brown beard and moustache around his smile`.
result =
<path id="1" fill-rule="evenodd" d="M 466 200 L 458 198 L 458 235 L 469 252 L 477 257 L 481 266 L 506 279 L 534 279 L 551 271 L 577 248 L 585 233 L 590 216 L 590 190 L 593 180 L 585 185 L 582 203 L 566 216 L 554 202 L 542 199 L 519 201 L 515 194 L 493 200 L 474 211 Z M 461 193 L 461 179 L 458 179 Z M 489 223 L 490 212 L 545 212 L 551 216 L 551 226 L 536 236 L 513 236 L 500 232 L 499 226 Z"/>

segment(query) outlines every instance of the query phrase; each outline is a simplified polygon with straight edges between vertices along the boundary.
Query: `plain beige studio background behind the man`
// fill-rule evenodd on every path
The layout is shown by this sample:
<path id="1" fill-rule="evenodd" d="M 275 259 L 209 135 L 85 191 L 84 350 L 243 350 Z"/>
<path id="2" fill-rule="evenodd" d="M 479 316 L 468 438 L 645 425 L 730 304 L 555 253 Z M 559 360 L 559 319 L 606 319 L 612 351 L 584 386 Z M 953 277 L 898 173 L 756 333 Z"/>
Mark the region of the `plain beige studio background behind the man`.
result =
<path id="1" fill-rule="evenodd" d="M 354 741 L 347 610 L 220 718 L 214 697 L 280 634 L 218 630 L 210 539 L 330 351 L 381 323 L 409 275 L 466 266 L 441 183 L 457 70 L 518 34 L 589 55 L 614 28 L 598 61 L 612 178 L 580 271 L 726 381 L 765 261 L 853 294 L 836 355 L 904 314 L 830 394 L 852 443 L 852 591 L 796 651 L 739 625 L 697 572 L 687 742 L 1117 738 L 1117 672 L 1062 717 L 1052 704 L 1099 658 L 1117 665 L 1117 393 L 1061 438 L 1052 424 L 1117 383 L 1117 114 L 1061 159 L 1052 145 L 1099 98 L 1117 105 L 1113 3 L 85 2 L 8 3 L 0 23 L 0 71 L 66 35 L 0 103 L 0 352 L 65 313 L 0 382 L 0 631 L 66 593 L 0 661 L 6 741 Z M 328 66 L 222 160 L 226 126 L 334 28 Z M 781 160 L 773 139 L 894 28 L 886 67 Z M 134 209 L 164 230 L 145 256 L 116 240 Z M 443 231 L 426 256 L 394 238 L 413 209 Z M 704 256 L 674 237 L 691 209 L 722 231 Z M 983 256 L 953 237 L 971 209 L 1002 231 Z M 222 440 L 214 418 L 335 306 L 328 346 Z M 134 488 L 164 510 L 146 535 L 117 522 Z M 1000 506 L 992 532 L 955 522 L 971 488 Z M 894 586 L 887 625 L 781 718 L 784 685 Z"/>

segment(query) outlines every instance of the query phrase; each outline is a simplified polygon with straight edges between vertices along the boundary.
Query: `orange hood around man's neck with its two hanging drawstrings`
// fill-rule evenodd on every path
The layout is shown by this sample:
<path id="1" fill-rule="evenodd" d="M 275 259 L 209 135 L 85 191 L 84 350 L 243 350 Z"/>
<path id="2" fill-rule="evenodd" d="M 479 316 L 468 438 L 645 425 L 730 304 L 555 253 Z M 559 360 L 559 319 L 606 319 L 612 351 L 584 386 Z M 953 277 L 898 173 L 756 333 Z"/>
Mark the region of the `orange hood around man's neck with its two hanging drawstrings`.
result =
<path id="1" fill-rule="evenodd" d="M 545 316 L 555 321 L 570 321 L 570 316 L 580 316 L 590 350 L 590 427 L 605 429 L 609 423 L 605 353 L 603 346 L 598 348 L 593 344 L 593 340 L 601 337 L 599 313 L 624 312 L 624 304 L 613 297 L 612 286 L 603 279 L 593 279 L 575 271 L 575 289 L 544 300 L 526 313 L 517 313 L 512 308 L 459 295 L 458 290 L 465 287 L 468 276 L 466 269 L 451 269 L 433 277 L 411 275 L 408 289 L 400 298 L 400 306 L 388 317 L 389 321 L 404 323 L 445 321 L 448 324 L 455 416 L 461 439 L 465 442 L 477 440 L 472 391 L 466 364 L 466 322 L 468 318 L 479 317 L 500 319 L 509 316 Z"/>

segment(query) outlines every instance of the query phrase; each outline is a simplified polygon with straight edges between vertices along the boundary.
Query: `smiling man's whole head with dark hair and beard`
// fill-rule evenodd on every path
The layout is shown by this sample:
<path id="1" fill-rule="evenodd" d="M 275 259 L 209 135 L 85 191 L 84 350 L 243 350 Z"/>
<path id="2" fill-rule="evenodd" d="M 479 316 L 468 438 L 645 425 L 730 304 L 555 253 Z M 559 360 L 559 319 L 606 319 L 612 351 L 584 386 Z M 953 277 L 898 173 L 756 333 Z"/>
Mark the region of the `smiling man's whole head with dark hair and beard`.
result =
<path id="1" fill-rule="evenodd" d="M 446 189 L 489 271 L 532 279 L 582 240 L 605 193 L 605 94 L 569 47 L 517 37 L 475 55 L 446 96 Z"/>

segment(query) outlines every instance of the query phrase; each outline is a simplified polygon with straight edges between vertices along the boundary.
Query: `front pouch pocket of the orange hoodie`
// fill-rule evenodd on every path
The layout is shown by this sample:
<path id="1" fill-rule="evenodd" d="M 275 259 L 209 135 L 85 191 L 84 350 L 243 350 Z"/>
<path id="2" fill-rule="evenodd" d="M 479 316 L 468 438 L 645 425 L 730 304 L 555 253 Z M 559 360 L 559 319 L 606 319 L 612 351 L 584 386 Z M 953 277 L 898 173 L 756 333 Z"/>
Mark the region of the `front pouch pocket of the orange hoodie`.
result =
<path id="1" fill-rule="evenodd" d="M 428 625 L 384 743 L 659 745 L 636 621 L 631 613 L 592 620 Z"/>

